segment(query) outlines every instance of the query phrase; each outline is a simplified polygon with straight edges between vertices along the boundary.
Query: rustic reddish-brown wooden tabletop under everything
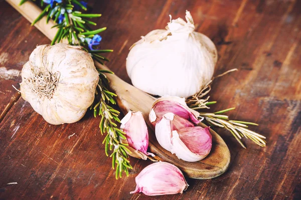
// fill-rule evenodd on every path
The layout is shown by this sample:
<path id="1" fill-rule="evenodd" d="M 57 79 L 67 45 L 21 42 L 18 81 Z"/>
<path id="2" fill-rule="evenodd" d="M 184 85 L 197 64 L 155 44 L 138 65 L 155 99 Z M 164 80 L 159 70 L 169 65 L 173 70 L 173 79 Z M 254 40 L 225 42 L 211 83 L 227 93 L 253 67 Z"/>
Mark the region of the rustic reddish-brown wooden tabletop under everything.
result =
<path id="1" fill-rule="evenodd" d="M 215 129 L 229 146 L 226 173 L 209 180 L 188 179 L 183 194 L 129 194 L 134 177 L 150 161 L 131 158 L 129 177 L 114 179 L 104 154 L 99 118 L 88 112 L 75 124 L 54 126 L 20 98 L 21 70 L 36 45 L 49 40 L 0 0 L 0 199 L 300 199 L 301 198 L 301 1 L 89 1 L 103 16 L 102 48 L 112 48 L 108 66 L 123 80 L 128 48 L 141 35 L 164 28 L 189 10 L 197 31 L 216 44 L 212 110 L 228 107 L 232 119 L 259 123 L 267 147 Z M 9 71 L 12 72 L 12 71 Z M 16 71 L 14 71 L 16 72 Z M 73 137 L 68 137 L 75 133 Z M 9 182 L 18 184 L 7 185 Z"/>

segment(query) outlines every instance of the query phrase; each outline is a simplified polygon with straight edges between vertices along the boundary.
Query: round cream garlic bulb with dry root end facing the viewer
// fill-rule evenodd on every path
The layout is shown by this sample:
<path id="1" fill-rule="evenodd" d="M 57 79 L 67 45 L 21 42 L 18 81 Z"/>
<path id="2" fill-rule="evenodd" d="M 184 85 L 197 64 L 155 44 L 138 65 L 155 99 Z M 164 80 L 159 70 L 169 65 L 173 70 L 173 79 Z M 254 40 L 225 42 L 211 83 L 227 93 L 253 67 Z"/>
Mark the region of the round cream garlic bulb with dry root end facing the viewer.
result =
<path id="1" fill-rule="evenodd" d="M 21 94 L 48 123 L 74 123 L 93 103 L 98 79 L 82 47 L 41 45 L 23 66 Z"/>

